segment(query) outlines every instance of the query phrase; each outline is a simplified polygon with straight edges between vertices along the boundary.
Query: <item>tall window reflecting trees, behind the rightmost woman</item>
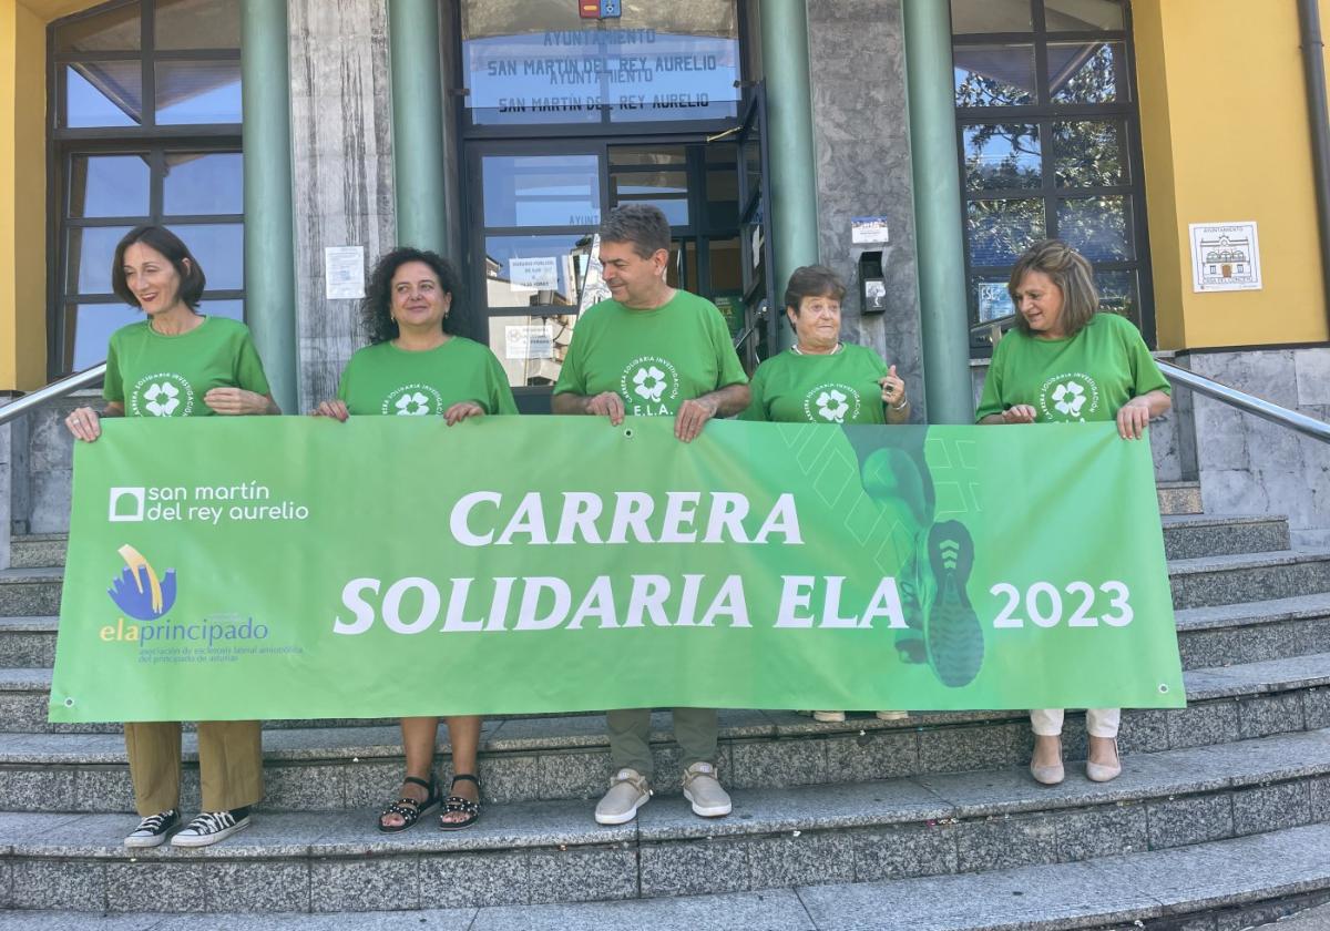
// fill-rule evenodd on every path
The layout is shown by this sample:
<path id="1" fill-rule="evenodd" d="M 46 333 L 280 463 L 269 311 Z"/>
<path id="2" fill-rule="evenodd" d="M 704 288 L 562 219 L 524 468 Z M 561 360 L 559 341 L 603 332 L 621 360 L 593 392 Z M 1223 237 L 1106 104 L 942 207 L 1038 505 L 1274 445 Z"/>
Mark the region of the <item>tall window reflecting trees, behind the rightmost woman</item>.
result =
<path id="1" fill-rule="evenodd" d="M 1013 313 L 1007 279 L 1057 237 L 1105 310 L 1153 342 L 1145 201 L 1123 0 L 951 0 L 971 325 Z"/>

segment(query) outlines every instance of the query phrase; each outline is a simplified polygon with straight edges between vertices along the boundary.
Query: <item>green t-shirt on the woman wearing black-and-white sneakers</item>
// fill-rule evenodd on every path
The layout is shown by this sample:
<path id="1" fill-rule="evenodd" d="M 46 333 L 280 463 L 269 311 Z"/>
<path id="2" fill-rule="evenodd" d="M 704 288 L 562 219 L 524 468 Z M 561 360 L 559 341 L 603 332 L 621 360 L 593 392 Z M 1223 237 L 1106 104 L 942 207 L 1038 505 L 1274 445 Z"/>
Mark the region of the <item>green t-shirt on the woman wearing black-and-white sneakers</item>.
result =
<path id="1" fill-rule="evenodd" d="M 124 404 L 125 416 L 211 416 L 203 395 L 213 388 L 271 394 L 243 323 L 205 317 L 189 332 L 165 336 L 140 321 L 110 334 L 101 396 Z"/>

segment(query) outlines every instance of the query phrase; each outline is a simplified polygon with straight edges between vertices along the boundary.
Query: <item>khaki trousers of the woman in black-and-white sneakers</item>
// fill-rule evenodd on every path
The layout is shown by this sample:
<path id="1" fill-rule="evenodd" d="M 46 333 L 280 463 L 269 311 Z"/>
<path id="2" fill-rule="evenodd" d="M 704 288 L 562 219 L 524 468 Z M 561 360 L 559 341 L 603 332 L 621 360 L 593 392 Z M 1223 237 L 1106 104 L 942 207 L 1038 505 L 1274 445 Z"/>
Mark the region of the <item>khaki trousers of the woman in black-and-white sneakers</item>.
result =
<path id="1" fill-rule="evenodd" d="M 125 725 L 129 777 L 142 818 L 180 807 L 180 722 Z M 198 774 L 203 811 L 230 811 L 263 798 L 258 721 L 200 721 Z"/>

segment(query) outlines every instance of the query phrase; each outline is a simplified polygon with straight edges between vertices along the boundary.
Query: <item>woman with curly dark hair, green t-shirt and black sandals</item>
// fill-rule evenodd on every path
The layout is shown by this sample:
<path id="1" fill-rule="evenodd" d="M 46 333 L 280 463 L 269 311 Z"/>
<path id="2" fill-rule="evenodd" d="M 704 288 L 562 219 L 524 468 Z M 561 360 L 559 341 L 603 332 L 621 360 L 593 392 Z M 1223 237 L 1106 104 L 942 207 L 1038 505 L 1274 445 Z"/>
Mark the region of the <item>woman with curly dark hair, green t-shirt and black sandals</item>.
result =
<path id="1" fill-rule="evenodd" d="M 462 282 L 447 259 L 419 249 L 394 249 L 370 275 L 362 306 L 370 344 L 342 371 L 338 396 L 315 416 L 442 416 L 450 427 L 485 414 L 516 414 L 508 376 L 487 346 L 452 332 Z M 480 818 L 476 751 L 480 717 L 447 718 L 452 786 L 440 798 L 434 777 L 438 717 L 402 718 L 407 774 L 399 798 L 383 809 L 379 830 L 404 831 L 440 805 L 439 826 L 468 827 Z"/>

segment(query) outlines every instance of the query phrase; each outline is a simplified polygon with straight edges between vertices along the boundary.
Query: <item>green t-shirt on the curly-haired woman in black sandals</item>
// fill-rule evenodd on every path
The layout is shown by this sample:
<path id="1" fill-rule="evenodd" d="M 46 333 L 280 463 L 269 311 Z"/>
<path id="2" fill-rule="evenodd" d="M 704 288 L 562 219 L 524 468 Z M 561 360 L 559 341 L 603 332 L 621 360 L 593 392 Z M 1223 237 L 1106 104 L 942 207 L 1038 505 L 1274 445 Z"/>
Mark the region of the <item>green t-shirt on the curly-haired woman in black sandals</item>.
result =
<path id="1" fill-rule="evenodd" d="M 336 396 L 351 414 L 440 416 L 462 400 L 476 402 L 485 414 L 517 412 L 499 359 L 466 336 L 424 352 L 366 346 L 346 363 Z"/>

